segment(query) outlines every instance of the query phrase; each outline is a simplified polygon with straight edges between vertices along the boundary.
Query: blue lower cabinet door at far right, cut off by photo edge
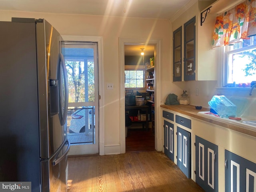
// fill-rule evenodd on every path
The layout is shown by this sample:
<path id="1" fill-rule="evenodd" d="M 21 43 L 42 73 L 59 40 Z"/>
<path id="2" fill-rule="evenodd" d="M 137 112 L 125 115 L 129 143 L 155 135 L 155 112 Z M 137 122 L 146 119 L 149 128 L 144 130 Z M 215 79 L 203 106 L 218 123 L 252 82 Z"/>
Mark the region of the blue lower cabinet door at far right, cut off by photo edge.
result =
<path id="1" fill-rule="evenodd" d="M 225 150 L 225 192 L 242 191 L 256 192 L 256 164 Z"/>

